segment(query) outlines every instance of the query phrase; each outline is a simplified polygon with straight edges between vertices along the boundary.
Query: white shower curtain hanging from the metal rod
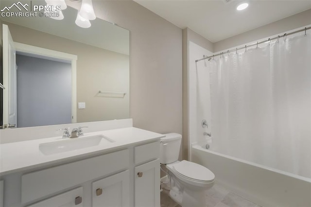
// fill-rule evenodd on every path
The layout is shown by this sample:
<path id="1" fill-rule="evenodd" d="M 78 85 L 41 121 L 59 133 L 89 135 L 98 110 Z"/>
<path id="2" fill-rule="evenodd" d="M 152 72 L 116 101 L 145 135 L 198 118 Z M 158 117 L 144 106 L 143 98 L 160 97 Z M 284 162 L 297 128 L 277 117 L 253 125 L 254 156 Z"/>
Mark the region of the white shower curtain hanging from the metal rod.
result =
<path id="1" fill-rule="evenodd" d="M 311 178 L 311 34 L 208 67 L 215 151 Z"/>

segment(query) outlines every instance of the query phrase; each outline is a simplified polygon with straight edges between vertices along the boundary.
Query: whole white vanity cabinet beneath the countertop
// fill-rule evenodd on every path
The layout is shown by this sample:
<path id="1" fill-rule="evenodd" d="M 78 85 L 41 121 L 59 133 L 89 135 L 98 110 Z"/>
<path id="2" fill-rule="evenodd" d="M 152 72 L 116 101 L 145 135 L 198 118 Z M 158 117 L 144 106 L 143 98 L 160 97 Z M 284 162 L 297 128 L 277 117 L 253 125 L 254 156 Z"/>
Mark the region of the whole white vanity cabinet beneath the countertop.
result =
<path id="1" fill-rule="evenodd" d="M 159 207 L 159 146 L 140 142 L 3 175 L 3 207 Z"/>

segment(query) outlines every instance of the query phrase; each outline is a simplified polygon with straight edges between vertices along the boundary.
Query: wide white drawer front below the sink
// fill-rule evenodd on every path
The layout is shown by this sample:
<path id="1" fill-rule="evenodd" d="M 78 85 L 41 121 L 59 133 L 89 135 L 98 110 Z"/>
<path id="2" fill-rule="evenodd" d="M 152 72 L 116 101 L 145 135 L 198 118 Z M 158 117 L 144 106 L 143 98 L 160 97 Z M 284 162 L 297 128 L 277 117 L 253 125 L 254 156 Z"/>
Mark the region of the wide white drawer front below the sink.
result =
<path id="1" fill-rule="evenodd" d="M 21 202 L 50 195 L 129 166 L 129 151 L 122 150 L 21 176 Z"/>

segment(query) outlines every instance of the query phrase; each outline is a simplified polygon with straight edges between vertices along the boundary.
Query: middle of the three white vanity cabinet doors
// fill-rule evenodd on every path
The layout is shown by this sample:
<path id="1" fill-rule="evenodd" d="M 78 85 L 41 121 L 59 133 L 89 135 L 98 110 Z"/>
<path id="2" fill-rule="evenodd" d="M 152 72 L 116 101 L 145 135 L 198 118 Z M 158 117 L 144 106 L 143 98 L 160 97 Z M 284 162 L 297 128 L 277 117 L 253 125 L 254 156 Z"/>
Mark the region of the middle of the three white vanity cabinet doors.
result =
<path id="1" fill-rule="evenodd" d="M 92 183 L 92 207 L 128 207 L 129 172 L 114 174 Z"/>

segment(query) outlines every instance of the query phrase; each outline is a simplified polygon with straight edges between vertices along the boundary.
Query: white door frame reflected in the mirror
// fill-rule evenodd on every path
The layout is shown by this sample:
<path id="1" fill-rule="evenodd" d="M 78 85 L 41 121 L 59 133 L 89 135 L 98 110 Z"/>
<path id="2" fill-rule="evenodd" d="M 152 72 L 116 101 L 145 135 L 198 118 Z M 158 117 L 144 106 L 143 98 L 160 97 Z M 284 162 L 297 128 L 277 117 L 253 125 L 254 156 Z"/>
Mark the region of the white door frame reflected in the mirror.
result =
<path id="1" fill-rule="evenodd" d="M 23 43 L 15 43 L 17 52 L 31 53 L 33 57 L 44 57 L 45 59 L 62 59 L 71 63 L 71 123 L 77 122 L 77 55 L 65 52 L 53 51 L 45 48 L 35 47 Z M 56 83 L 55 83 L 56 84 Z"/>

